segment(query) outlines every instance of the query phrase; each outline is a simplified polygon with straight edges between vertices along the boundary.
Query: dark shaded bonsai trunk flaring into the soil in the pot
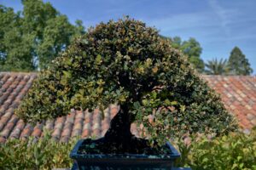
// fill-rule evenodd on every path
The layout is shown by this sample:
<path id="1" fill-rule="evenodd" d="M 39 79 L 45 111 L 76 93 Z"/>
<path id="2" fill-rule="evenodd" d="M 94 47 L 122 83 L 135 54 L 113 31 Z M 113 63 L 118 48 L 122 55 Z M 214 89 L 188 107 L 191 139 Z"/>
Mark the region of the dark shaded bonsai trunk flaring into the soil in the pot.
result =
<path id="1" fill-rule="evenodd" d="M 110 122 L 110 127 L 102 139 L 86 139 L 81 146 L 84 154 L 150 154 L 156 151 L 151 148 L 147 139 L 140 139 L 131 134 L 131 114 L 126 105 Z"/>

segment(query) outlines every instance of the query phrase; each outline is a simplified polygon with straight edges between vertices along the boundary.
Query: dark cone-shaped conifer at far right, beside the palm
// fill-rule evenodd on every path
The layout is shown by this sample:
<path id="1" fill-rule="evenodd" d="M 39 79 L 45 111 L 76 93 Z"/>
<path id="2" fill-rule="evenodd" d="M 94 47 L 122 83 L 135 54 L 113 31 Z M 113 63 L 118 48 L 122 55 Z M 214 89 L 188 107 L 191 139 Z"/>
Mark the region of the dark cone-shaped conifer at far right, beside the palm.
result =
<path id="1" fill-rule="evenodd" d="M 235 47 L 230 53 L 229 59 L 230 74 L 232 75 L 250 75 L 253 69 L 246 56 L 242 54 L 241 49 Z"/>

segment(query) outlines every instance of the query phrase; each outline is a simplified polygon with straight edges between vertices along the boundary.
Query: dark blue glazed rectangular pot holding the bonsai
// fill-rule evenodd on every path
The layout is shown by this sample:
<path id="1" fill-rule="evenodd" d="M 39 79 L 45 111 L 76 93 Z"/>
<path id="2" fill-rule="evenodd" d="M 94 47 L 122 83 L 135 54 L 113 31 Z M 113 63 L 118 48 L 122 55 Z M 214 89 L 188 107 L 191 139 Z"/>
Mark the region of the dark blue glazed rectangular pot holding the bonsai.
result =
<path id="1" fill-rule="evenodd" d="M 79 147 L 87 139 L 80 139 L 77 144 L 75 144 L 73 150 L 70 153 L 70 157 L 73 159 L 73 170 L 122 170 L 122 169 L 137 169 L 137 170 L 156 170 L 156 169 L 172 169 L 174 161 L 180 157 L 177 150 L 170 144 L 166 143 L 166 147 L 171 150 L 171 155 L 169 156 L 148 156 L 148 155 L 85 155 L 78 154 Z M 93 143 L 93 140 L 91 140 Z"/>

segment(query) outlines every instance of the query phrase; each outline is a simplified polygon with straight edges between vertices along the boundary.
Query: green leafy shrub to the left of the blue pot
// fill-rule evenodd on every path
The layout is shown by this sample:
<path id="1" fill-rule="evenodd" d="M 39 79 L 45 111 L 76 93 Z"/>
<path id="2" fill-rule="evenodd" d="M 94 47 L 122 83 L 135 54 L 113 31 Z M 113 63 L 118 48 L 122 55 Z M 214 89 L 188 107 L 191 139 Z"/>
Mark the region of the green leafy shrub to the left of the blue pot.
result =
<path id="1" fill-rule="evenodd" d="M 9 139 L 0 144 L 0 169 L 52 169 L 71 167 L 69 153 L 77 139 L 55 142 L 46 133 L 41 139 Z"/>

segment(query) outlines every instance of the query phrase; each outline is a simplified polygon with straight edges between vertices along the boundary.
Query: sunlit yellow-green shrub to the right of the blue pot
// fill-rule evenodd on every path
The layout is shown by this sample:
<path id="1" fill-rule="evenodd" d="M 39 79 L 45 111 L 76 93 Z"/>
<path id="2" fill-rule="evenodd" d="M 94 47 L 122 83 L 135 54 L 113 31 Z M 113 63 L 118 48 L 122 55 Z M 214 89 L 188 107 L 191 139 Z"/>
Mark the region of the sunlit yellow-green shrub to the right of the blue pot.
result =
<path id="1" fill-rule="evenodd" d="M 256 169 L 256 130 L 230 133 L 216 139 L 193 138 L 190 144 L 179 142 L 182 154 L 179 166 L 196 169 Z"/>

